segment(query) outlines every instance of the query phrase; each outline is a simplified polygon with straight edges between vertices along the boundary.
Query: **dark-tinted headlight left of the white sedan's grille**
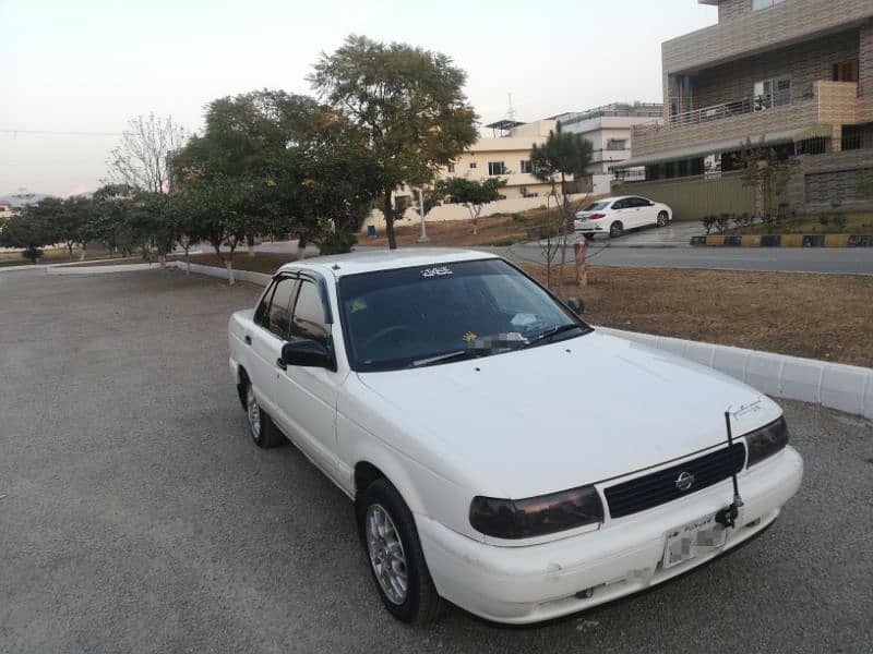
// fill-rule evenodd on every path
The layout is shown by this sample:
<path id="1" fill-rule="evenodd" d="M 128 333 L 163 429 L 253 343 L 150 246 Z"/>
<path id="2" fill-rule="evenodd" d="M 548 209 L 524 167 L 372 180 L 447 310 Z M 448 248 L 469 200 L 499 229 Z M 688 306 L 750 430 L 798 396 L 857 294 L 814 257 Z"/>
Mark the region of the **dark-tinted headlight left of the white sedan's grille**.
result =
<path id="1" fill-rule="evenodd" d="M 594 486 L 529 499 L 477 496 L 470 504 L 473 528 L 495 538 L 543 536 L 602 520 L 603 505 Z"/>

